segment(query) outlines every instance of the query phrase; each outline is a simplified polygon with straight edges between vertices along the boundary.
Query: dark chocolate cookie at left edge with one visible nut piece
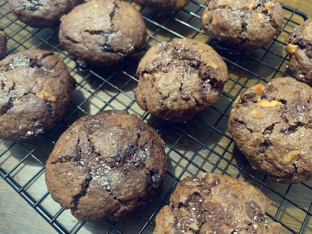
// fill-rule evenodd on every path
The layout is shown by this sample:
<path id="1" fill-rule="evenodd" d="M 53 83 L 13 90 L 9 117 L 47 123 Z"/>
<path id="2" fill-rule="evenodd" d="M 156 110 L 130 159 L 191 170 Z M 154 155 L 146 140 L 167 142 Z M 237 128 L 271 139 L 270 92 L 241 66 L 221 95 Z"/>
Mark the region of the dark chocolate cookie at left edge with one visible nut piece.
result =
<path id="1" fill-rule="evenodd" d="M 22 51 L 0 61 L 0 139 L 21 142 L 53 128 L 74 81 L 49 51 Z"/>

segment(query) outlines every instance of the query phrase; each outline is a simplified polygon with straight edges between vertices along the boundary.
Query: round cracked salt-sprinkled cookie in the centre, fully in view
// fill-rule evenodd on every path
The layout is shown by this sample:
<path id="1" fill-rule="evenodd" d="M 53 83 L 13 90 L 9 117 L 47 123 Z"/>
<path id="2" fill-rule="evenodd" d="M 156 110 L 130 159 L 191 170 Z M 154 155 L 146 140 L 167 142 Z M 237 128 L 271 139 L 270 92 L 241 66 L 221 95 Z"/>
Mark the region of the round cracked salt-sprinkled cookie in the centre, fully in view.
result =
<path id="1" fill-rule="evenodd" d="M 152 46 L 139 62 L 135 100 L 159 118 L 183 122 L 215 104 L 228 81 L 227 66 L 210 46 L 175 39 Z"/>

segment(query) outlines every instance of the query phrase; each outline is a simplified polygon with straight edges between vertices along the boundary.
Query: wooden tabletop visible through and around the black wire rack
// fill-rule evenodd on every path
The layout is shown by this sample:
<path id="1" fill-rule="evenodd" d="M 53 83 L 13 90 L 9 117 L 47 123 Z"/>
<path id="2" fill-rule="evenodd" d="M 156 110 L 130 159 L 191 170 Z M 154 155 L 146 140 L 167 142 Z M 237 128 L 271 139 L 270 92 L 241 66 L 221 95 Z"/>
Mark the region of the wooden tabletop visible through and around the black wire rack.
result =
<path id="1" fill-rule="evenodd" d="M 7 14 L 8 12 L 8 4 L 5 4 L 6 1 L 0 0 L 0 13 L 6 14 L 8 18 L 2 18 L 0 20 L 1 26 L 6 26 L 10 24 L 10 19 L 14 19 L 15 17 L 12 14 Z M 312 4 L 309 0 L 281 0 L 280 2 L 289 5 L 290 7 L 297 8 L 298 10 L 305 12 L 309 18 L 312 18 Z M 139 7 L 136 6 L 138 9 Z M 186 9 L 191 9 L 194 6 L 188 6 Z M 148 16 L 151 14 L 151 12 L 145 11 L 145 14 Z M 201 11 L 198 13 L 201 14 Z M 180 11 L 175 17 L 178 19 L 188 20 L 188 15 Z M 285 12 L 285 17 L 290 17 L 289 12 Z M 168 18 L 163 17 L 163 15 L 156 16 L 158 22 L 165 22 Z M 295 22 L 302 23 L 303 19 L 300 16 L 294 16 L 292 18 Z M 286 22 L 286 21 L 285 21 Z M 21 25 L 25 25 L 22 22 L 17 22 Z M 188 22 L 190 25 L 198 26 L 198 19 L 192 19 Z M 176 21 L 170 20 L 166 27 L 172 29 L 173 31 L 179 30 L 181 25 L 179 25 Z M 289 31 L 293 27 L 295 27 L 295 24 L 289 23 L 285 30 Z M 147 29 L 150 34 L 153 34 L 155 30 L 158 27 L 156 27 L 152 23 L 147 23 Z M 29 30 L 29 31 L 27 31 Z M 56 45 L 58 43 L 57 35 L 53 36 L 51 38 L 48 37 L 48 35 L 52 35 L 54 33 L 51 29 L 32 29 L 30 27 L 27 27 L 27 30 L 22 29 L 17 24 L 10 24 L 8 27 L 5 28 L 5 31 L 10 36 L 10 39 L 8 40 L 8 50 L 12 50 L 12 53 L 25 50 L 23 46 L 26 46 L 28 48 L 34 48 L 36 45 L 40 43 L 40 40 L 37 37 L 32 37 L 31 33 L 37 34 L 40 37 L 46 39 L 49 43 L 52 45 Z M 179 31 L 181 35 L 184 35 L 188 38 L 195 36 L 195 40 L 207 42 L 210 39 L 202 34 L 195 34 L 194 31 L 188 30 L 187 28 L 183 28 L 181 31 Z M 168 38 L 172 37 L 173 34 L 166 32 L 165 30 L 160 30 L 159 33 L 155 35 L 156 38 L 162 41 L 167 41 Z M 281 42 L 287 41 L 287 33 L 282 33 L 280 37 L 278 38 Z M 21 43 L 23 46 L 18 46 L 18 43 Z M 156 44 L 156 40 L 150 40 L 148 42 L 147 48 L 149 46 L 152 46 L 153 44 Z M 275 43 L 276 45 L 276 43 Z M 271 51 L 275 51 L 278 54 L 281 54 L 282 56 L 285 56 L 285 47 L 282 47 L 279 45 L 272 46 L 270 49 Z M 18 46 L 18 47 L 17 47 Z M 45 44 L 41 45 L 40 48 L 42 49 L 48 49 L 51 50 L 50 46 L 47 46 Z M 222 52 L 222 51 L 221 51 Z M 224 53 L 224 51 L 222 52 Z M 60 53 L 55 51 L 55 54 L 63 57 Z M 140 57 L 143 54 L 138 54 L 135 57 L 136 61 L 139 61 Z M 230 59 L 235 60 L 238 59 L 235 54 L 229 55 L 227 54 Z M 253 57 L 261 58 L 263 56 L 263 52 L 261 50 L 257 50 L 252 53 Z M 250 70 L 254 70 L 255 74 L 266 77 L 267 79 L 270 79 L 273 75 L 275 75 L 274 69 L 268 69 L 265 65 L 260 65 L 255 69 L 255 66 L 257 62 L 252 61 L 247 56 L 243 56 L 243 58 L 240 58 L 239 65 L 246 67 Z M 280 60 L 276 56 L 273 55 L 266 55 L 264 61 L 275 68 L 279 66 Z M 69 68 L 75 68 L 76 64 L 71 61 L 70 59 L 65 59 L 66 65 Z M 133 66 L 129 66 L 125 68 L 125 71 L 128 72 L 128 74 L 134 74 L 136 69 L 136 64 L 132 64 Z M 229 69 L 232 68 L 230 64 Z M 284 62 L 282 66 L 280 67 L 281 71 L 286 71 L 286 65 L 287 62 Z M 112 74 L 115 71 L 116 67 L 112 68 L 106 68 L 105 71 L 97 71 L 99 74 L 104 74 L 107 76 L 107 74 Z M 85 78 L 85 75 L 87 73 L 83 71 L 79 71 L 78 69 L 73 69 L 71 72 L 72 76 L 75 77 L 77 82 L 80 82 L 81 85 L 86 87 L 88 90 L 95 90 L 99 85 L 101 85 L 102 80 L 97 79 L 94 76 L 91 76 L 90 78 Z M 234 80 L 244 83 L 246 81 L 246 78 L 249 76 L 248 72 L 245 72 L 241 69 L 235 68 L 230 77 Z M 282 74 L 278 73 L 277 76 L 282 76 Z M 129 79 L 128 76 L 125 74 L 115 74 L 112 79 L 110 79 L 110 82 L 115 85 L 116 87 L 120 88 L 120 84 L 124 84 Z M 263 82 L 260 79 L 258 79 L 256 76 L 251 77 L 251 79 L 247 82 L 247 86 L 250 87 L 258 82 Z M 227 85 L 225 86 L 224 92 L 228 95 L 235 96 L 238 90 L 240 89 L 240 85 L 236 84 L 233 81 L 229 81 Z M 124 87 L 124 92 L 129 94 L 130 96 L 134 96 L 134 90 L 136 88 L 136 81 L 132 80 L 129 81 L 129 84 Z M 80 104 L 82 101 L 87 99 L 87 102 L 81 105 L 81 108 L 85 111 L 87 111 L 90 114 L 95 114 L 100 108 L 102 108 L 105 103 L 103 101 L 100 101 L 100 99 L 108 101 L 111 98 L 114 97 L 116 93 L 116 88 L 112 87 L 111 85 L 104 85 L 99 91 L 96 92 L 97 97 L 94 97 L 91 95 L 90 92 L 83 89 L 81 87 L 78 87 L 72 94 L 71 100 L 75 104 Z M 90 97 L 90 99 L 88 99 Z M 100 99 L 99 99 L 100 98 Z M 128 105 L 132 103 L 132 99 L 129 98 L 127 95 L 123 93 L 119 93 L 114 100 L 110 102 L 111 105 L 115 106 L 118 109 L 125 109 Z M 221 100 L 215 105 L 216 108 L 219 110 L 225 109 L 225 104 L 229 103 L 230 99 L 227 98 L 225 95 L 222 95 Z M 105 106 L 105 109 L 111 109 L 109 106 Z M 230 108 L 231 109 L 231 108 Z M 68 111 L 66 112 L 66 115 L 76 110 L 76 107 L 74 105 L 69 105 Z M 135 113 L 139 115 L 139 117 L 144 117 L 146 115 L 146 112 L 142 111 L 137 104 L 133 104 L 131 108 L 129 109 L 130 113 Z M 73 115 L 68 121 L 66 121 L 66 124 L 71 124 L 73 121 L 78 119 L 80 116 L 84 115 L 84 113 L 80 110 L 77 110 L 75 112 L 75 115 Z M 204 119 L 209 124 L 215 124 L 217 119 L 221 117 L 221 114 L 213 110 L 211 108 L 207 110 L 203 110 L 199 118 Z M 149 125 L 153 126 L 155 129 L 160 129 L 163 125 L 164 128 L 161 130 L 161 135 L 163 137 L 164 142 L 166 142 L 168 145 L 172 146 L 176 143 L 176 140 L 179 139 L 182 132 L 178 131 L 173 125 L 165 123 L 162 120 L 159 120 L 158 118 L 149 115 L 148 118 L 145 120 Z M 187 125 L 186 124 L 178 124 L 176 125 L 181 129 L 184 129 Z M 229 132 L 227 131 L 227 118 L 222 117 L 219 121 L 219 123 L 215 126 L 216 129 L 226 133 L 227 136 L 230 136 Z M 37 158 L 39 158 L 43 163 L 45 163 L 47 157 L 49 156 L 51 150 L 53 149 L 53 141 L 55 142 L 58 139 L 58 136 L 66 129 L 66 125 L 64 124 L 61 126 L 61 128 L 56 131 L 56 133 L 52 134 L 50 139 L 51 140 L 45 140 L 45 137 L 39 137 L 36 142 L 31 143 L 25 143 L 23 148 L 21 145 L 16 144 L 14 145 L 10 150 L 7 151 L 3 156 L 0 157 L 0 167 L 4 169 L 6 172 L 9 172 L 17 163 L 19 163 L 21 160 L 23 160 L 25 157 L 25 161 L 21 163 L 21 165 L 13 171 L 11 174 L 11 177 L 19 184 L 24 185 L 35 173 L 37 173 L 42 166 L 34 159 L 32 156 L 28 155 L 28 151 L 32 151 L 37 144 L 40 142 L 40 147 L 32 152 L 33 155 L 35 155 Z M 205 124 L 203 124 L 201 121 L 195 120 L 193 124 L 186 130 L 186 133 L 191 134 L 193 137 L 198 139 L 199 141 L 204 142 L 205 145 L 210 147 L 213 151 L 215 151 L 217 154 L 222 154 L 222 152 L 228 147 L 227 152 L 224 154 L 224 157 L 227 158 L 229 161 L 242 166 L 246 159 L 244 156 L 238 151 L 235 144 L 230 144 L 230 140 L 228 137 L 218 134 L 216 131 L 213 131 L 211 136 L 204 141 L 205 136 L 207 133 L 211 130 L 211 128 Z M 43 142 L 41 142 L 43 141 Z M 12 142 L 5 142 L 0 140 L 0 153 L 9 147 L 12 144 Z M 230 144 L 230 145 L 229 145 Z M 169 154 L 168 158 L 168 170 L 173 173 L 175 176 L 179 176 L 180 173 L 183 171 L 183 169 L 188 166 L 188 161 L 183 159 L 179 154 L 185 155 L 187 158 L 192 158 L 194 153 L 198 150 L 198 153 L 196 157 L 194 158 L 193 162 L 197 163 L 197 165 L 201 166 L 207 171 L 210 171 L 213 166 L 218 162 L 219 157 L 212 153 L 211 150 L 201 147 L 200 142 L 194 141 L 192 138 L 190 138 L 188 135 L 184 134 L 181 139 L 178 141 L 178 143 L 175 145 L 174 149 L 175 151 L 172 151 Z M 168 152 L 170 149 L 167 147 L 166 152 Z M 249 164 L 247 163 L 245 166 L 245 170 L 248 173 L 251 173 L 256 178 L 262 180 L 264 178 L 264 175 L 261 173 L 257 173 L 255 170 L 251 169 Z M 239 172 L 238 169 L 230 165 L 224 160 L 221 160 L 216 169 L 216 173 L 223 173 L 231 176 L 236 176 Z M 196 178 L 199 178 L 201 175 L 201 171 L 194 167 L 192 164 L 188 166 L 187 171 L 183 174 L 182 178 L 188 175 L 195 176 Z M 255 185 L 256 187 L 259 187 L 259 183 L 255 182 L 255 180 L 252 180 L 248 176 L 242 174 L 240 176 L 240 179 L 243 179 L 247 181 L 248 183 L 251 183 Z M 174 179 L 170 176 L 167 177 L 164 191 L 168 191 L 168 189 L 172 186 L 174 183 Z M 269 179 L 266 180 L 266 184 L 270 187 L 274 188 L 281 194 L 285 194 L 288 189 L 288 185 L 285 184 L 278 184 L 275 183 Z M 312 186 L 311 182 L 307 183 L 308 185 Z M 270 189 L 267 189 L 263 187 L 261 189 L 266 196 L 268 196 L 272 200 L 272 205 L 269 209 L 269 213 L 275 215 L 277 212 L 281 197 L 277 196 L 275 193 L 273 193 Z M 22 199 L 22 197 L 19 196 L 18 193 L 16 193 L 4 180 L 0 179 L 0 233 L 56 233 L 56 231 L 35 211 L 30 207 L 25 200 Z M 44 173 L 41 172 L 36 179 L 30 183 L 26 188 L 25 191 L 29 193 L 35 200 L 40 199 L 41 196 L 43 196 L 47 189 L 44 181 Z M 295 203 L 299 204 L 305 209 L 309 209 L 310 203 L 312 201 L 312 194 L 311 190 L 306 188 L 302 184 L 294 185 L 288 191 L 288 198 Z M 162 194 L 163 196 L 165 193 Z M 167 199 L 168 200 L 168 199 Z M 159 199 L 154 200 L 153 202 L 150 202 L 144 210 L 141 212 L 146 216 L 149 217 L 155 208 L 158 206 L 158 204 L 161 201 Z M 61 207 L 55 203 L 51 197 L 48 195 L 42 202 L 41 206 L 44 207 L 52 216 L 54 216 L 57 212 L 60 211 Z M 278 217 L 280 220 L 282 220 L 286 225 L 289 225 L 291 228 L 293 228 L 295 231 L 299 232 L 301 224 L 303 220 L 305 219 L 305 213 L 302 212 L 300 209 L 296 208 L 289 202 L 285 202 L 283 209 L 280 212 L 280 215 Z M 79 225 L 80 221 L 75 219 L 71 216 L 69 211 L 65 211 L 61 214 L 61 216 L 57 219 L 68 231 L 73 231 L 75 228 Z M 138 233 L 140 227 L 144 225 L 144 220 L 139 216 L 139 214 L 134 214 L 133 216 L 129 217 L 128 219 L 119 221 L 117 224 L 117 228 L 122 231 L 123 233 Z M 78 232 L 80 234 L 84 233 L 102 233 L 106 232 L 109 229 L 109 225 L 106 222 L 87 222 L 81 230 Z M 116 233 L 114 231 L 110 233 Z M 146 234 L 152 234 L 153 233 L 153 227 L 151 225 L 147 225 L 146 229 L 143 233 Z M 287 230 L 284 230 L 284 233 L 290 233 Z M 311 218 L 308 220 L 305 231 L 303 233 L 309 234 L 312 233 L 312 220 Z"/>

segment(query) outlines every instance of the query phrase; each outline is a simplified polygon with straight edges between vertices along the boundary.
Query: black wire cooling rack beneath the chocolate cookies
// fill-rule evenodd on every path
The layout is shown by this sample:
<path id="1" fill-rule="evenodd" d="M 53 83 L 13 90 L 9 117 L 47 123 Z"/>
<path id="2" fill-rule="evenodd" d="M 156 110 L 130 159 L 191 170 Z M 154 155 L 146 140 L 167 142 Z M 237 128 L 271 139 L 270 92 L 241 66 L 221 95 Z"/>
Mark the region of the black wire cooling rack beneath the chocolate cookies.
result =
<path id="1" fill-rule="evenodd" d="M 242 90 L 259 82 L 264 84 L 274 77 L 288 76 L 287 36 L 307 16 L 283 5 L 282 32 L 268 46 L 247 53 L 232 51 L 202 33 L 200 17 L 204 2 L 192 1 L 173 14 L 158 14 L 130 3 L 140 10 L 146 23 L 148 37 L 144 49 L 121 64 L 89 69 L 76 64 L 67 55 L 58 41 L 57 29 L 25 25 L 10 13 L 8 0 L 0 0 L 0 25 L 7 32 L 8 54 L 29 48 L 53 51 L 64 60 L 77 81 L 64 121 L 59 126 L 34 142 L 19 144 L 0 140 L 1 177 L 59 233 L 153 233 L 155 215 L 169 203 L 170 194 L 179 180 L 188 175 L 200 178 L 206 171 L 231 175 L 260 188 L 272 201 L 267 219 L 281 223 L 284 233 L 312 233 L 309 219 L 312 183 L 279 184 L 256 172 L 227 131 L 229 111 Z M 134 101 L 138 82 L 135 70 L 140 58 L 150 46 L 174 37 L 210 44 L 226 61 L 230 79 L 216 105 L 181 124 L 158 119 L 141 110 Z M 158 130 L 168 155 L 167 178 L 163 193 L 131 217 L 116 222 L 83 222 L 51 199 L 44 182 L 45 162 L 60 134 L 76 119 L 107 109 L 128 110 Z"/>

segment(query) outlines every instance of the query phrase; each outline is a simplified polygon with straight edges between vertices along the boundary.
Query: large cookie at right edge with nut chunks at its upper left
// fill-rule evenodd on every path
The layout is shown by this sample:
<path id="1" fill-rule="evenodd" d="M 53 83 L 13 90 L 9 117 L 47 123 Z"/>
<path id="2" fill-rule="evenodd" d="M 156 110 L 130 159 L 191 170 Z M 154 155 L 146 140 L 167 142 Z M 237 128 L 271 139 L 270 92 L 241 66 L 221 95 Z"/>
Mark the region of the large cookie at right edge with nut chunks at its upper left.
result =
<path id="1" fill-rule="evenodd" d="M 228 128 L 253 168 L 281 183 L 312 178 L 312 88 L 291 77 L 243 91 Z"/>

